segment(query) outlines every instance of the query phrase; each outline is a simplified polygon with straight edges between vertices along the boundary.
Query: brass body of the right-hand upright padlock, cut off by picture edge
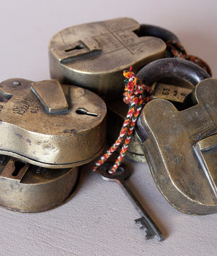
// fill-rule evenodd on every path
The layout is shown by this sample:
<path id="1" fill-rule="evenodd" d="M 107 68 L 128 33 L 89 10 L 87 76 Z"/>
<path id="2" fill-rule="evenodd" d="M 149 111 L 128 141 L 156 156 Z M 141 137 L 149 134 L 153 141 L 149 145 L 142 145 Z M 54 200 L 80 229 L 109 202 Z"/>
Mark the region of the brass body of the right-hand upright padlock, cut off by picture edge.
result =
<path id="1" fill-rule="evenodd" d="M 154 99 L 137 123 L 157 187 L 186 214 L 217 212 L 216 88 L 216 79 L 202 80 L 192 92 L 192 106 L 181 111 L 166 99 Z"/>

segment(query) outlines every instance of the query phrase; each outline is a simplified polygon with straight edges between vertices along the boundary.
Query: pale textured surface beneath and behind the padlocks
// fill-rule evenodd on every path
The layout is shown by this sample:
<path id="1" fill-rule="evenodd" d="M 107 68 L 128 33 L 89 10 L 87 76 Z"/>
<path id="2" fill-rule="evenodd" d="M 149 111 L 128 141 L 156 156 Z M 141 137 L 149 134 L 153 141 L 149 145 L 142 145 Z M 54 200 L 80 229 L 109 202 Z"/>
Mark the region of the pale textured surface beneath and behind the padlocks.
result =
<path id="1" fill-rule="evenodd" d="M 117 17 L 170 29 L 188 53 L 208 61 L 217 78 L 216 0 L 1 0 L 0 10 L 0 80 L 50 78 L 47 45 L 53 34 Z M 0 255 L 216 255 L 216 214 L 181 214 L 162 197 L 146 164 L 130 165 L 130 186 L 165 241 L 146 241 L 133 222 L 139 215 L 118 185 L 86 167 L 76 194 L 59 208 L 40 214 L 0 208 Z"/>

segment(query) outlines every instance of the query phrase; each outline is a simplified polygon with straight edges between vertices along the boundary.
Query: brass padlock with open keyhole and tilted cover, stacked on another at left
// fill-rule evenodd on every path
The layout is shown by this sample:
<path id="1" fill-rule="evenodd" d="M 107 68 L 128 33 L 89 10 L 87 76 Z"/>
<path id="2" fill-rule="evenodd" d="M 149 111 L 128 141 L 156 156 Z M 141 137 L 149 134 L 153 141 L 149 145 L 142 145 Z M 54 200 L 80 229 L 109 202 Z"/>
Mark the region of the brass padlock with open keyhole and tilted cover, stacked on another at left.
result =
<path id="1" fill-rule="evenodd" d="M 49 168 L 84 165 L 103 150 L 105 119 L 103 99 L 87 89 L 58 80 L 0 84 L 0 154 Z"/>

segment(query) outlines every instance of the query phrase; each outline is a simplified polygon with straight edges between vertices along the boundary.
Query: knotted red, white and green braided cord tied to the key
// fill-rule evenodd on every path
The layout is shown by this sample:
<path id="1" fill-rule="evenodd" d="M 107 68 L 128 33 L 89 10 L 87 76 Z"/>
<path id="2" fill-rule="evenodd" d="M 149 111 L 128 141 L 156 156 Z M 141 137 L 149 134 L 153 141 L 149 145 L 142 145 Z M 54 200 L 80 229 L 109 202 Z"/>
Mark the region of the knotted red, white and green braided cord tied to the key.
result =
<path id="1" fill-rule="evenodd" d="M 97 170 L 100 165 L 103 165 L 104 162 L 111 156 L 111 154 L 117 150 L 119 145 L 124 141 L 122 149 L 119 153 L 114 166 L 109 170 L 109 173 L 114 173 L 119 165 L 122 162 L 122 159 L 125 157 L 125 153 L 130 143 L 130 139 L 133 135 L 133 129 L 135 123 L 138 119 L 138 116 L 141 112 L 143 104 L 151 100 L 151 89 L 149 86 L 146 86 L 141 83 L 138 78 L 135 77 L 132 72 L 132 67 L 130 67 L 129 72 L 124 71 L 124 76 L 127 78 L 125 80 L 125 93 L 124 93 L 124 102 L 129 104 L 129 110 L 125 118 L 122 129 L 119 132 L 119 137 L 111 148 L 106 151 L 106 154 L 103 154 L 102 157 L 95 163 L 95 166 L 92 170 Z"/>

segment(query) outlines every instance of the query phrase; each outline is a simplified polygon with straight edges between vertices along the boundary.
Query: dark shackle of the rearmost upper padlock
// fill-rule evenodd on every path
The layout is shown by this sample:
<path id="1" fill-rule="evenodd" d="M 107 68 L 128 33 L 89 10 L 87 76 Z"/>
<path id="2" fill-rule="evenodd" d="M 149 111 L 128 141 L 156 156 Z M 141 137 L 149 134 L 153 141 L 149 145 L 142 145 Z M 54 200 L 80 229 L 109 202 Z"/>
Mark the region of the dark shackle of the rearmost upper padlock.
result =
<path id="1" fill-rule="evenodd" d="M 141 24 L 136 34 L 138 34 L 138 37 L 158 37 L 162 39 L 164 42 L 168 42 L 172 40 L 175 40 L 176 42 L 180 42 L 178 37 L 175 36 L 175 34 L 159 26 Z"/>

